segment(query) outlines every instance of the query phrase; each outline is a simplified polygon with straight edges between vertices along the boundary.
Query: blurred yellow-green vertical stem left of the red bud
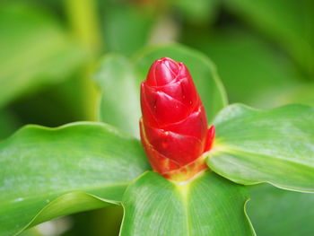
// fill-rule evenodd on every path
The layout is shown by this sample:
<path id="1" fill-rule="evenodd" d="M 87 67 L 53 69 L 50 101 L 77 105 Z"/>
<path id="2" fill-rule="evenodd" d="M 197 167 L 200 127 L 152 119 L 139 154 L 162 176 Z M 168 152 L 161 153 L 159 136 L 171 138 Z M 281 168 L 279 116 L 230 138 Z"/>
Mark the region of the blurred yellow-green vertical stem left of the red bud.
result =
<path id="1" fill-rule="evenodd" d="M 65 0 L 65 11 L 68 21 L 76 39 L 78 39 L 92 55 L 92 60 L 83 67 L 80 83 L 82 98 L 78 98 L 84 109 L 85 119 L 95 120 L 97 118 L 97 104 L 99 92 L 92 82 L 92 73 L 95 60 L 103 48 L 100 37 L 97 5 L 95 0 Z"/>

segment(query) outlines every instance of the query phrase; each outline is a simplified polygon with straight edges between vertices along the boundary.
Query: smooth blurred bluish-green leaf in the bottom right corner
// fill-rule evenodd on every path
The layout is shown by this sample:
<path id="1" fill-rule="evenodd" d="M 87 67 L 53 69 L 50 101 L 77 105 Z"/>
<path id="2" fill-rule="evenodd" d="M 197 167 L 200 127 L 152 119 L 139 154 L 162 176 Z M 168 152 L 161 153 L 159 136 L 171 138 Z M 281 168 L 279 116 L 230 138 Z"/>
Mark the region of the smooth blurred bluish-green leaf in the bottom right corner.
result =
<path id="1" fill-rule="evenodd" d="M 249 194 L 247 212 L 258 236 L 313 234 L 314 194 L 266 184 L 250 187 Z"/>

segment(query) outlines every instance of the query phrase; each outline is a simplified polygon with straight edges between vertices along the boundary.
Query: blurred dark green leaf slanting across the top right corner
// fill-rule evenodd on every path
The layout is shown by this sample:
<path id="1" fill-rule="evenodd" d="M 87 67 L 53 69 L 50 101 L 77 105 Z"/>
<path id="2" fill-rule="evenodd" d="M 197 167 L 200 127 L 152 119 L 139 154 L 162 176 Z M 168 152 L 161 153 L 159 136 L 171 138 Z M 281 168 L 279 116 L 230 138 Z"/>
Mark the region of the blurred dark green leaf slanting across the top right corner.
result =
<path id="1" fill-rule="evenodd" d="M 275 39 L 308 73 L 314 73 L 312 0 L 224 0 L 232 12 Z"/>

